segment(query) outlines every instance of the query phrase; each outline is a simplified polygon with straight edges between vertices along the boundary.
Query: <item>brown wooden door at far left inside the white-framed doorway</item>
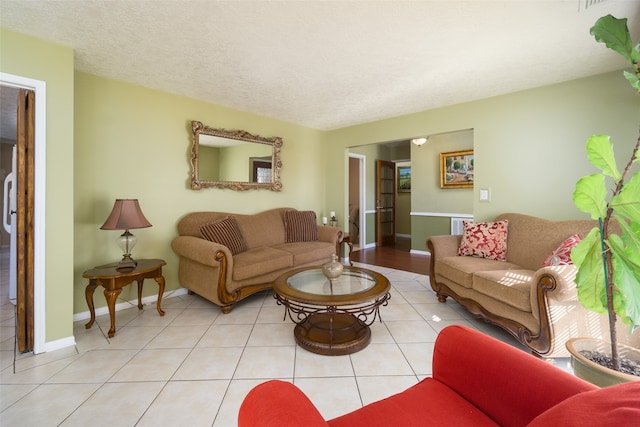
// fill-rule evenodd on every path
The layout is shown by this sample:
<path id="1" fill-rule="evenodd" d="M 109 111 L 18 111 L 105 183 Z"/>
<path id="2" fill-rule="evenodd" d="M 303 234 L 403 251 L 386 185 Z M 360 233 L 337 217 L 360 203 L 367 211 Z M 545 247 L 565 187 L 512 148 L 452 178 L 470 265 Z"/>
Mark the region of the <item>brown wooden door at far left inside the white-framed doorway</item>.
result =
<path id="1" fill-rule="evenodd" d="M 16 329 L 18 351 L 33 350 L 33 212 L 35 172 L 35 93 L 21 89 L 16 135 Z"/>

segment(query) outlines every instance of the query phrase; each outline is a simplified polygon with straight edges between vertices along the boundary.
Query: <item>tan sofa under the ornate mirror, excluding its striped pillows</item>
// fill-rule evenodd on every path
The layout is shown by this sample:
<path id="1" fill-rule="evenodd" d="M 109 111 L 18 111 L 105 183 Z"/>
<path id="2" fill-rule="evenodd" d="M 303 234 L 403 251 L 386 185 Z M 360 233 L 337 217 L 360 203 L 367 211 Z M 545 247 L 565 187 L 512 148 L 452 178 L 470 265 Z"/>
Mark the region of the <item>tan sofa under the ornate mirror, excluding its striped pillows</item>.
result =
<path id="1" fill-rule="evenodd" d="M 278 208 L 255 215 L 194 212 L 184 216 L 178 222 L 179 236 L 171 244 L 180 256 L 181 285 L 229 313 L 233 303 L 270 288 L 273 280 L 287 270 L 329 261 L 342 239 L 342 230 L 314 222 L 317 240 L 287 243 L 299 240 L 292 238 L 294 222 L 285 223 L 287 211 L 293 215 L 300 212 Z M 206 240 L 201 234 L 202 226 L 228 217 L 237 223 L 245 243 L 246 250 L 235 255 L 227 246 Z"/>

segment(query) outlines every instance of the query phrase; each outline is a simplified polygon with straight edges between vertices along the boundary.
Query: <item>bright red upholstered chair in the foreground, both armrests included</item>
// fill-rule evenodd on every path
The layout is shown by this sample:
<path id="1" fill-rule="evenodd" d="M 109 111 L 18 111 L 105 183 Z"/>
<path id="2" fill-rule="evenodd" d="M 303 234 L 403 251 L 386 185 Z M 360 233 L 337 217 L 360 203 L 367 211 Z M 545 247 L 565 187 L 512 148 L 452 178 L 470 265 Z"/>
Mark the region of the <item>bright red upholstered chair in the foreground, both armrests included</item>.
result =
<path id="1" fill-rule="evenodd" d="M 529 423 L 640 425 L 640 382 L 599 389 L 501 341 L 456 325 L 438 335 L 433 377 L 401 393 L 326 421 L 295 385 L 268 381 L 249 392 L 238 417 L 240 427 Z"/>

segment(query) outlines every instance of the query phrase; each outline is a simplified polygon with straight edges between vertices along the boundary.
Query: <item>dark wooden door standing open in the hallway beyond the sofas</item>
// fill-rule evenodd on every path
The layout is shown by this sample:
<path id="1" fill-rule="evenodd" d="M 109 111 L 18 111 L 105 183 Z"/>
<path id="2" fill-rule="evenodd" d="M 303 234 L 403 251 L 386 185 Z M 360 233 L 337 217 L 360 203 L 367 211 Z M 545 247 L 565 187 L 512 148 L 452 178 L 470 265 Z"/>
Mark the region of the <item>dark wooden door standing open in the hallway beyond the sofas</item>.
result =
<path id="1" fill-rule="evenodd" d="M 393 245 L 396 237 L 396 164 L 376 160 L 376 244 Z"/>

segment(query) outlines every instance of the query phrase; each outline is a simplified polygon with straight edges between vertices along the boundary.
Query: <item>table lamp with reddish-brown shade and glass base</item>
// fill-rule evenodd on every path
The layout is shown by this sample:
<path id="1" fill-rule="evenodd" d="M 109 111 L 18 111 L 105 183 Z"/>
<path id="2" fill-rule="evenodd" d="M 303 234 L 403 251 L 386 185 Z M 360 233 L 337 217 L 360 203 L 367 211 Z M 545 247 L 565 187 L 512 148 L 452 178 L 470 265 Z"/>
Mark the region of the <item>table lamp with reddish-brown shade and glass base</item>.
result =
<path id="1" fill-rule="evenodd" d="M 109 218 L 100 227 L 101 230 L 125 230 L 118 238 L 118 246 L 124 253 L 118 269 L 135 268 L 138 263 L 131 258 L 131 250 L 137 243 L 136 236 L 129 231 L 133 228 L 151 227 L 144 217 L 138 199 L 116 199 Z"/>

